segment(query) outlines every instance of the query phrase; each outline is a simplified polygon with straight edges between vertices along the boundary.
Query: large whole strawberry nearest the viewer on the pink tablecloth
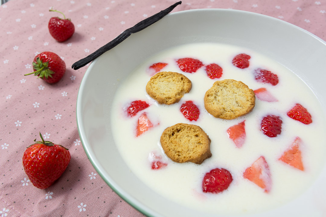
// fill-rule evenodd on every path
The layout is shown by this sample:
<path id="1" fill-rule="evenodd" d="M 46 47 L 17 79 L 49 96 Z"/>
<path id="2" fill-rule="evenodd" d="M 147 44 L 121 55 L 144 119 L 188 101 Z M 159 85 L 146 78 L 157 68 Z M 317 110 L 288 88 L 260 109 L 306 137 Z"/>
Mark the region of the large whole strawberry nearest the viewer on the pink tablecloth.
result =
<path id="1" fill-rule="evenodd" d="M 50 187 L 66 170 L 70 162 L 67 148 L 53 142 L 34 140 L 22 157 L 25 173 L 33 185 L 40 189 Z"/>

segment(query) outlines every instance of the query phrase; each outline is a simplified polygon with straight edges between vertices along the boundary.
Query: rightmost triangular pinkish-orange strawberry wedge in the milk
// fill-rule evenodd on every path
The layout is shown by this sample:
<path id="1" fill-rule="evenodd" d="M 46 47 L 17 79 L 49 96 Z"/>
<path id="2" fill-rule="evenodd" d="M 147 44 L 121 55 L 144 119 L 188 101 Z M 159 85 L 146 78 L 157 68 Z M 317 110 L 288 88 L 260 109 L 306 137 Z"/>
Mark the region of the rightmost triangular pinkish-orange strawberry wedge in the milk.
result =
<path id="1" fill-rule="evenodd" d="M 289 164 L 292 167 L 295 167 L 299 170 L 304 171 L 304 165 L 302 163 L 302 156 L 299 146 L 301 146 L 302 140 L 299 137 L 296 137 L 294 142 L 291 144 L 288 150 L 286 150 L 283 155 L 278 158 L 284 163 Z"/>

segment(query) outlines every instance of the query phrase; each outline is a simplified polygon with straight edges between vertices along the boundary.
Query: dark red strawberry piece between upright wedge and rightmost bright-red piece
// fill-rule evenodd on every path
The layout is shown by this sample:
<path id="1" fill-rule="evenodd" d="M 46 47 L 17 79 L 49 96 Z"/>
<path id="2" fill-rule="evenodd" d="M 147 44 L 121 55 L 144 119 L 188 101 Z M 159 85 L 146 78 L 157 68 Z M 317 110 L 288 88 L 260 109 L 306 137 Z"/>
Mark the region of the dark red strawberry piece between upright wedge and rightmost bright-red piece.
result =
<path id="1" fill-rule="evenodd" d="M 276 115 L 267 115 L 261 121 L 261 129 L 264 134 L 269 137 L 275 137 L 277 134 L 281 134 L 282 120 Z"/>

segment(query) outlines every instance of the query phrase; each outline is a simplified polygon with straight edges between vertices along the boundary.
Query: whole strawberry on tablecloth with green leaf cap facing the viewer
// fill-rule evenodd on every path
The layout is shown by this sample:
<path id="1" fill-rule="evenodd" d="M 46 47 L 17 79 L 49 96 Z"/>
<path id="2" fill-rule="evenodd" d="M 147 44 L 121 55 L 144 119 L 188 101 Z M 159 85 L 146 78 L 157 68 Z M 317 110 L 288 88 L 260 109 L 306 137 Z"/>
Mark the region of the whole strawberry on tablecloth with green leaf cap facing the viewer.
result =
<path id="1" fill-rule="evenodd" d="M 38 54 L 33 61 L 34 72 L 26 75 L 36 75 L 52 84 L 60 81 L 66 72 L 66 63 L 55 53 L 45 51 Z"/>

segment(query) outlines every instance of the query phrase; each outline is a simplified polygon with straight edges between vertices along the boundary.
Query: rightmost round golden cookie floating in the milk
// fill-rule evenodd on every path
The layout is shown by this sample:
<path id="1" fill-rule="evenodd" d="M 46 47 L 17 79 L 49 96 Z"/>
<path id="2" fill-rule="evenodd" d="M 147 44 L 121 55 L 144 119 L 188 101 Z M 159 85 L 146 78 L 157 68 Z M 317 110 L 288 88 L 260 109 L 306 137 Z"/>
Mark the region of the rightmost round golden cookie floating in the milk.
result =
<path id="1" fill-rule="evenodd" d="M 249 113 L 255 106 L 255 93 L 241 81 L 216 81 L 204 97 L 206 110 L 214 117 L 234 119 Z"/>

